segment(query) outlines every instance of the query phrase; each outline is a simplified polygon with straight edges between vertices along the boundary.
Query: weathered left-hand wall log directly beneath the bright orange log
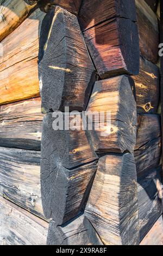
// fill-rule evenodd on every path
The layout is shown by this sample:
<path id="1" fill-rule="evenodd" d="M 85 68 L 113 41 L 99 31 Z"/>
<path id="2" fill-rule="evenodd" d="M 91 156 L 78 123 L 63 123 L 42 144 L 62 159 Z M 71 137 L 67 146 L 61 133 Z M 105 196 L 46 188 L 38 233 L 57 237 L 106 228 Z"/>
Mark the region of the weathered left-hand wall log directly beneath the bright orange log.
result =
<path id="1" fill-rule="evenodd" d="M 0 146 L 41 150 L 41 99 L 0 106 Z"/>

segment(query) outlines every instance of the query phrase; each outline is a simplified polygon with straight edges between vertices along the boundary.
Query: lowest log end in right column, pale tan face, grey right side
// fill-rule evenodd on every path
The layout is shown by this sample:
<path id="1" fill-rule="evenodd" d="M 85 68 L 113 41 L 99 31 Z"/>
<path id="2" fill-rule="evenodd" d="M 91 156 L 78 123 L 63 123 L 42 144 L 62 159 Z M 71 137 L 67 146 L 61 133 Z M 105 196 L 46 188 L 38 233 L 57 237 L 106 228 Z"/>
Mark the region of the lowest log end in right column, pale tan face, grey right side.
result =
<path id="1" fill-rule="evenodd" d="M 99 159 L 85 215 L 105 245 L 139 244 L 136 168 L 131 154 Z"/>

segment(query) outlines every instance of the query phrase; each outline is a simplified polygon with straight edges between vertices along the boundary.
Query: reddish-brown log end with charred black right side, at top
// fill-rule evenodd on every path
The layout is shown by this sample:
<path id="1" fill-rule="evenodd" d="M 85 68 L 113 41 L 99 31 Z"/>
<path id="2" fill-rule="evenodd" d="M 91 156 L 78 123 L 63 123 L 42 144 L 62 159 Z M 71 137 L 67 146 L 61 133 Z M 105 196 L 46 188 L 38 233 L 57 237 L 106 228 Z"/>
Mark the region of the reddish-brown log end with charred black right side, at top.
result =
<path id="1" fill-rule="evenodd" d="M 123 4 L 122 1 L 83 1 L 79 23 L 102 79 L 139 74 L 139 36 L 135 21 L 134 1 L 123 1 Z"/>

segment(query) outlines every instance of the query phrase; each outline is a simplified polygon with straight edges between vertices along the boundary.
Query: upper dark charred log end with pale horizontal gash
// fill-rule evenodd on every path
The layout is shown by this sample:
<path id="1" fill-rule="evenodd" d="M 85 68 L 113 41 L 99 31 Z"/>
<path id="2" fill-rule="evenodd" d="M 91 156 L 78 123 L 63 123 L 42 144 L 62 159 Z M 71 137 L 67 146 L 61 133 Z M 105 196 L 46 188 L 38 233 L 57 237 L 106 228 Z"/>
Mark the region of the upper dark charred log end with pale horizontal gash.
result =
<path id="1" fill-rule="evenodd" d="M 95 71 L 77 17 L 60 7 L 42 22 L 39 78 L 46 111 L 85 110 Z"/>

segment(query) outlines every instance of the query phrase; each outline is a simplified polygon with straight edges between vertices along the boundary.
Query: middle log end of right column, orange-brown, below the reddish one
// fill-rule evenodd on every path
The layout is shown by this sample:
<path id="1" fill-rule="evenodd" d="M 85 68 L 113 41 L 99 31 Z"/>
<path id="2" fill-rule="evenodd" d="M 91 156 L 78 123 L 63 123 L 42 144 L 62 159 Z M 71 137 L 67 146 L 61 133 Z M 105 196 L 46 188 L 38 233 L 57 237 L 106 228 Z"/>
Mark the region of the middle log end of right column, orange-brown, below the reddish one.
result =
<path id="1" fill-rule="evenodd" d="M 95 151 L 134 151 L 137 114 L 133 88 L 133 80 L 126 75 L 96 82 L 87 111 L 110 112 L 111 123 L 105 121 L 98 130 L 89 131 Z M 93 118 L 93 122 L 98 119 Z"/>

